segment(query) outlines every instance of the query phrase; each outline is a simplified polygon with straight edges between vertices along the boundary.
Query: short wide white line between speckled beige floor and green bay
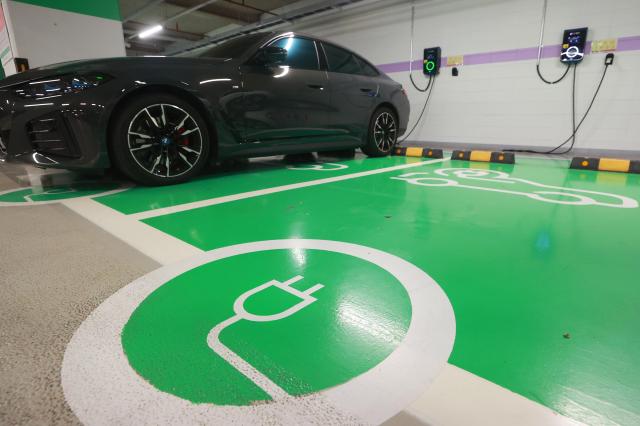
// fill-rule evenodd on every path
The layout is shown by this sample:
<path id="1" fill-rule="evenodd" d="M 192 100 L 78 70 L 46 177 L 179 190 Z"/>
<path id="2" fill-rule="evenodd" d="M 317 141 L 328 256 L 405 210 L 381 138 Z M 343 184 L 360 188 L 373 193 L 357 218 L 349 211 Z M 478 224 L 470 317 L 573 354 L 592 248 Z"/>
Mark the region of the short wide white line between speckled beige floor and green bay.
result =
<path id="1" fill-rule="evenodd" d="M 202 253 L 202 250 L 191 244 L 90 198 L 73 198 L 61 203 L 162 265 Z"/>

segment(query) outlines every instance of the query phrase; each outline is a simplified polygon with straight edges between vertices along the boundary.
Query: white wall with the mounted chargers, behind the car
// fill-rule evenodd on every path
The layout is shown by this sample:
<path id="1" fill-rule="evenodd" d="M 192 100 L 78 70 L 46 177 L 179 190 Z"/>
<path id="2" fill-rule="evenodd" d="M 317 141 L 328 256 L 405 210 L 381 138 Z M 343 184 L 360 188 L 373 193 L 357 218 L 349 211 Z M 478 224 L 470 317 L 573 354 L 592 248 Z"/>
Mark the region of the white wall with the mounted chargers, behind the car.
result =
<path id="1" fill-rule="evenodd" d="M 416 2 L 415 58 L 441 46 L 443 56 L 537 47 L 542 0 L 432 0 Z M 408 61 L 410 2 L 379 1 L 294 29 L 347 46 L 374 64 Z M 589 40 L 640 35 L 638 0 L 549 0 L 545 45 L 560 44 L 565 28 L 589 27 Z M 604 54 L 578 66 L 577 105 L 582 114 L 603 70 Z M 542 61 L 547 78 L 559 76 L 558 59 Z M 410 125 L 422 108 L 406 72 L 391 73 L 410 95 Z M 424 82 L 420 71 L 415 73 Z M 571 79 L 548 86 L 535 60 L 469 65 L 437 78 L 428 115 L 410 140 L 552 147 L 571 132 Z M 580 129 L 577 147 L 640 151 L 640 51 L 617 52 L 596 105 Z"/>

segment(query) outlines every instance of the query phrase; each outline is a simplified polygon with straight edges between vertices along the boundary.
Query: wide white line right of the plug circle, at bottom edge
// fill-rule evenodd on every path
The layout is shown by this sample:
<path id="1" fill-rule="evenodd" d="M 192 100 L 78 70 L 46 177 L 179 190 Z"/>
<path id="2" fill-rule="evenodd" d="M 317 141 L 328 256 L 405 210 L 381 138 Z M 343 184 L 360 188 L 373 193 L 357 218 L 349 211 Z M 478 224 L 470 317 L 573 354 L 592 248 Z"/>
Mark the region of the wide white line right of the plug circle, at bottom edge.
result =
<path id="1" fill-rule="evenodd" d="M 582 424 L 451 364 L 429 390 L 385 426 L 418 422 L 445 426 Z"/>

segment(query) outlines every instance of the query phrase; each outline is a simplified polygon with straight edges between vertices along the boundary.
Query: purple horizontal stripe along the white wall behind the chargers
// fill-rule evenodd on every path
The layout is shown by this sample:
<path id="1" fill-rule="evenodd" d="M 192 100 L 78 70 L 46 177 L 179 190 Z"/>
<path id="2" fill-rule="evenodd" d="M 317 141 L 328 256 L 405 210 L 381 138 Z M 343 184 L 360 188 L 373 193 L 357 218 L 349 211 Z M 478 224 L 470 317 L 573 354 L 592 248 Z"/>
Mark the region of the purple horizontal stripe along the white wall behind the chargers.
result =
<path id="1" fill-rule="evenodd" d="M 557 58 L 560 56 L 560 48 L 559 44 L 552 46 L 545 46 L 542 49 L 542 57 L 543 58 Z M 630 51 L 630 50 L 640 50 L 640 36 L 633 37 L 621 37 L 618 39 L 618 51 Z M 587 42 L 587 47 L 585 48 L 585 54 L 591 53 L 591 42 Z M 511 49 L 511 50 L 500 50 L 497 52 L 486 52 L 486 53 L 470 53 L 468 55 L 464 55 L 464 65 L 483 65 L 483 64 L 495 64 L 500 62 L 514 62 L 514 61 L 527 61 L 538 58 L 538 48 L 537 47 L 526 47 L 523 49 Z M 447 58 L 442 58 L 442 66 L 445 67 L 447 63 Z M 393 62 L 390 64 L 382 64 L 378 65 L 380 71 L 385 73 L 394 73 L 394 72 L 403 72 L 409 70 L 409 61 L 404 62 Z M 418 59 L 413 61 L 413 69 L 421 70 L 422 69 L 422 60 Z"/>

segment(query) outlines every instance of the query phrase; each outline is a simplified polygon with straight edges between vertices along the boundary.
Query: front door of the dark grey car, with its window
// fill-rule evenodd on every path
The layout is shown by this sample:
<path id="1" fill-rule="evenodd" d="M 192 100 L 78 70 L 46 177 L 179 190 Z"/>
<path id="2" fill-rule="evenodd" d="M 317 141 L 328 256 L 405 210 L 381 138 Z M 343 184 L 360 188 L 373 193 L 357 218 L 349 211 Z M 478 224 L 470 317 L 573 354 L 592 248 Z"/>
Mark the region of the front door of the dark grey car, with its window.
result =
<path id="1" fill-rule="evenodd" d="M 287 50 L 283 63 L 244 65 L 244 140 L 266 145 L 327 133 L 330 95 L 314 40 L 288 36 L 270 46 Z"/>

